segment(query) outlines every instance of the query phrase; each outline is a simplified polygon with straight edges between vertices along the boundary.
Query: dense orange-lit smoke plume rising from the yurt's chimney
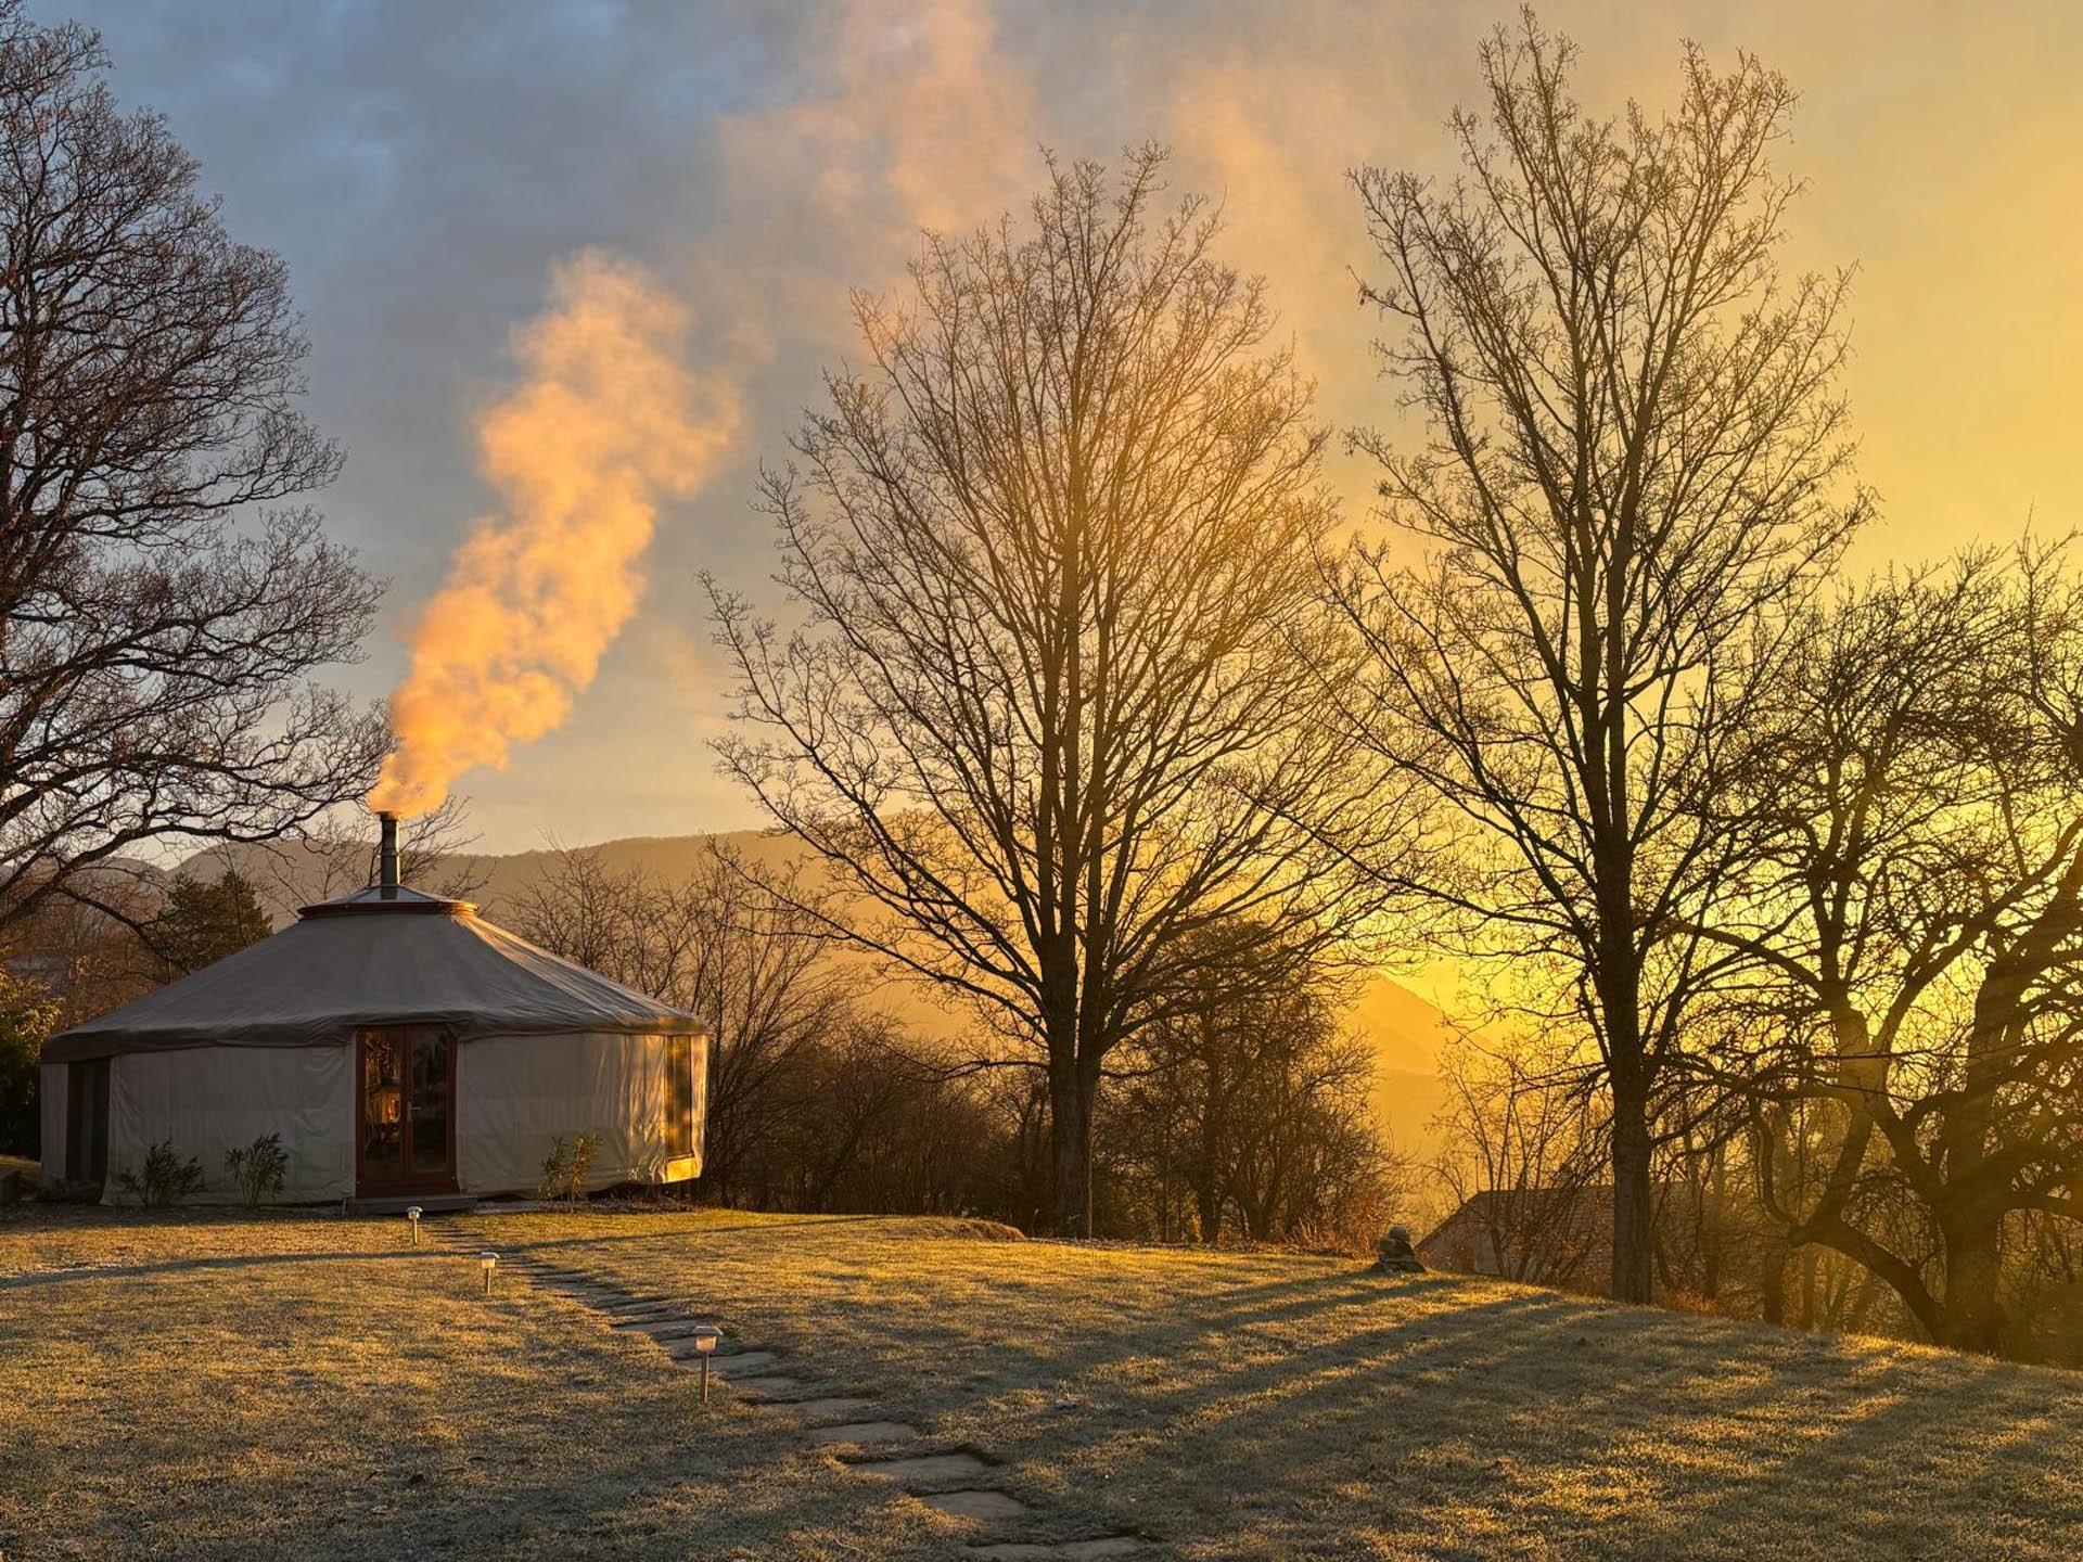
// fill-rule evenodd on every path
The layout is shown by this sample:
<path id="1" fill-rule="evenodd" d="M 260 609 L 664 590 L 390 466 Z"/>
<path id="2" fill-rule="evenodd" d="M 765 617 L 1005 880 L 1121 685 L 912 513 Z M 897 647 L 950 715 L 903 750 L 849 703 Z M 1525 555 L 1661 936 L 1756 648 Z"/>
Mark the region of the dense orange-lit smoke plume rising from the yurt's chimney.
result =
<path id="1" fill-rule="evenodd" d="M 687 329 L 642 269 L 589 250 L 515 331 L 521 383 L 477 419 L 479 471 L 504 504 L 421 612 L 371 808 L 440 806 L 594 681 L 644 594 L 658 500 L 694 494 L 737 429 L 735 392 L 685 367 Z"/>

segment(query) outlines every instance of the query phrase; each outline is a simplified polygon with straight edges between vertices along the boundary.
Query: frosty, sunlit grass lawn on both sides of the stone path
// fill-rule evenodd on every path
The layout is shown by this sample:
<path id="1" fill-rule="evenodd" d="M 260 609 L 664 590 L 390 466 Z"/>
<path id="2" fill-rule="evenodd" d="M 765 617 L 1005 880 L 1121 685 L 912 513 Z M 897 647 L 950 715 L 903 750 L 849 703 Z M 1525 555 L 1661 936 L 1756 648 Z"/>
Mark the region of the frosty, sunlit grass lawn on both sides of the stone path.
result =
<path id="1" fill-rule="evenodd" d="M 939 1223 L 498 1214 L 685 1300 L 917 1445 L 1014 1537 L 1179 1558 L 2075 1558 L 2083 1375 L 1344 1260 Z M 0 1552 L 962 1558 L 969 1531 L 598 1314 L 402 1220 L 0 1214 Z"/>

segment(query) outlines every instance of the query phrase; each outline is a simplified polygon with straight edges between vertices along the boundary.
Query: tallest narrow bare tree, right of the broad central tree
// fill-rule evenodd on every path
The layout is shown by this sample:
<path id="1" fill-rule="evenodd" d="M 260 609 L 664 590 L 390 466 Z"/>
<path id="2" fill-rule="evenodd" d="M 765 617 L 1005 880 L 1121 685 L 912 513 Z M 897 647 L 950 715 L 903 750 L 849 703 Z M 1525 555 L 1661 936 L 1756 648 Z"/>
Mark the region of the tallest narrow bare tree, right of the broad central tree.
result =
<path id="1" fill-rule="evenodd" d="M 1596 1041 L 1612 1293 L 1641 1302 L 1652 1123 L 1716 964 L 1681 927 L 1723 852 L 1693 796 L 1862 504 L 1831 389 L 1846 277 L 1773 258 L 1791 90 L 1687 48 L 1671 117 L 1598 121 L 1573 60 L 1525 12 L 1483 44 L 1489 117 L 1452 121 L 1462 179 L 1354 175 L 1385 371 L 1429 435 L 1362 437 L 1423 556 L 1360 550 L 1333 594 L 1373 669 L 1348 731 L 1423 779 L 1458 848 L 1421 887 L 1458 948 L 1510 956 L 1519 1002 Z"/>

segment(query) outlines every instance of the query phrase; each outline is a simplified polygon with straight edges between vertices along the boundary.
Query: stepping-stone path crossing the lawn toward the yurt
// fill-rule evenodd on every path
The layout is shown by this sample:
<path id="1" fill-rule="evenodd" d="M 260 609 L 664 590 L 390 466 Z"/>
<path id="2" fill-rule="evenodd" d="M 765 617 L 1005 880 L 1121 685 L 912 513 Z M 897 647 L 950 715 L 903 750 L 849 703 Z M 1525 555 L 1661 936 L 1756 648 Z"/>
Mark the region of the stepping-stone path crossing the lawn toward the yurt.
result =
<path id="1" fill-rule="evenodd" d="M 446 1239 L 450 1233 L 442 1233 Z M 460 1235 L 460 1233 L 454 1233 Z M 465 1248 L 460 1241 L 444 1245 Z M 619 1285 L 602 1281 L 569 1264 L 556 1264 L 533 1254 L 512 1254 L 500 1258 L 500 1275 L 508 1281 L 525 1279 L 546 1291 L 567 1295 L 581 1306 L 600 1312 L 610 1329 L 650 1339 L 675 1364 L 700 1370 L 700 1354 L 694 1347 L 694 1331 L 700 1318 L 685 1304 L 669 1298 L 635 1295 Z M 877 1450 L 892 1443 L 914 1443 L 921 1431 L 908 1420 L 898 1420 L 875 1400 L 831 1393 L 825 1385 L 802 1375 L 802 1364 L 785 1362 L 783 1352 L 737 1341 L 721 1341 L 708 1358 L 708 1370 L 729 1385 L 729 1391 L 764 1404 L 777 1412 L 787 1412 L 804 1422 L 804 1437 L 812 1447 Z M 842 1454 L 842 1458 L 848 1458 Z M 1019 1522 L 1033 1516 L 1033 1508 L 992 1481 L 998 1466 L 987 1458 L 967 1452 L 942 1454 L 875 1454 L 862 1452 L 848 1458 L 848 1464 L 867 1475 L 892 1481 L 902 1491 L 954 1518 L 967 1518 L 983 1531 L 971 1541 L 979 1562 L 1100 1562 L 1100 1558 L 1148 1558 L 1154 1550 L 1135 1535 L 1096 1535 L 1081 1541 L 1019 1541 L 994 1539 L 989 1527 Z"/>

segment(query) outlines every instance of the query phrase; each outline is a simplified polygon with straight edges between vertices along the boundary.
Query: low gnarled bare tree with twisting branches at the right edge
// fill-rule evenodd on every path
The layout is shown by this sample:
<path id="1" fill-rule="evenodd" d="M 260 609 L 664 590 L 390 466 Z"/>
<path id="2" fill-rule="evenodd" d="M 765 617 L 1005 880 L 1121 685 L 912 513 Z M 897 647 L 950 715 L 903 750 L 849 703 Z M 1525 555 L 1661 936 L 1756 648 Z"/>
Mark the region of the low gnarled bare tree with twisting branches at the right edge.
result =
<path id="1" fill-rule="evenodd" d="M 1800 621 L 1718 823 L 1754 964 L 1723 1068 L 1787 1250 L 2000 1350 L 2006 1235 L 2083 1220 L 2083 587 L 1983 552 Z"/>

